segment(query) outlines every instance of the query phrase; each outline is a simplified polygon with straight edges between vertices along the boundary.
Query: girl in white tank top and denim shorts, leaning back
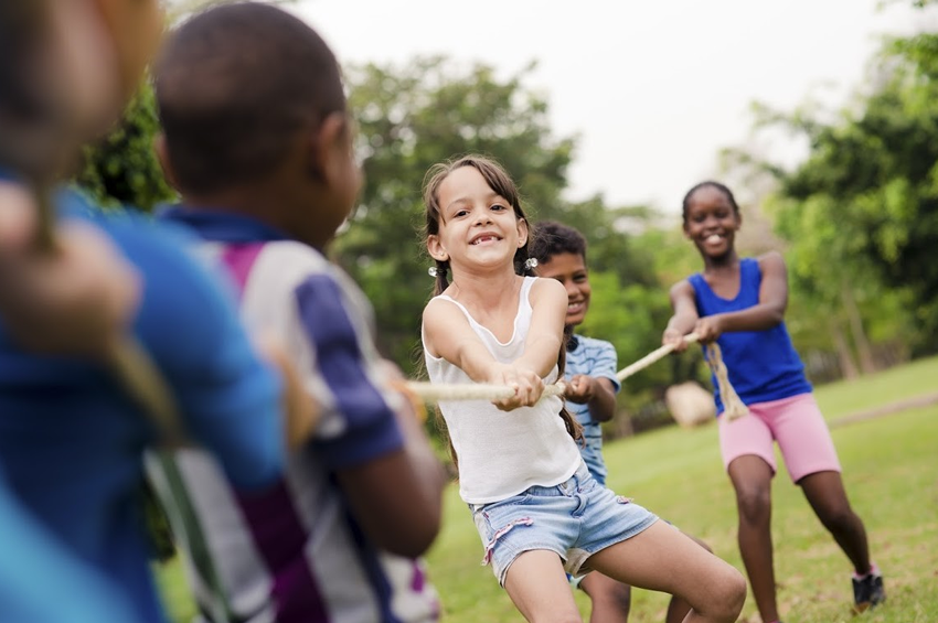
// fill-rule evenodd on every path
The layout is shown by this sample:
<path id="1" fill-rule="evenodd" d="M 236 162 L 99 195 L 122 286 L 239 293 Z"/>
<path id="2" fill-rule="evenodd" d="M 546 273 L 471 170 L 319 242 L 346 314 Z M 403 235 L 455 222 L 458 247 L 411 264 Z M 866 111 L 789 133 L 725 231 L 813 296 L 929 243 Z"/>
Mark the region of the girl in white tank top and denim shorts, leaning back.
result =
<path id="1" fill-rule="evenodd" d="M 436 165 L 427 180 L 436 296 L 422 336 L 430 380 L 514 388 L 494 402 L 439 405 L 483 561 L 529 621 L 580 620 L 564 571 L 589 569 L 683 598 L 687 622 L 736 621 L 742 574 L 598 485 L 561 399 L 541 400 L 562 372 L 567 294 L 555 280 L 520 276 L 527 223 L 511 179 L 468 155 Z"/>

